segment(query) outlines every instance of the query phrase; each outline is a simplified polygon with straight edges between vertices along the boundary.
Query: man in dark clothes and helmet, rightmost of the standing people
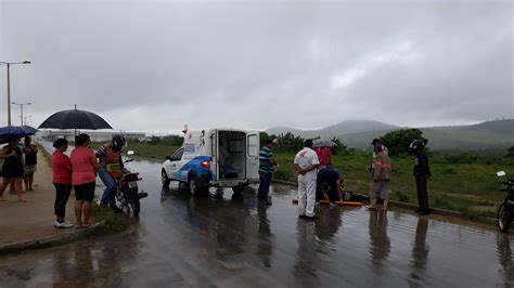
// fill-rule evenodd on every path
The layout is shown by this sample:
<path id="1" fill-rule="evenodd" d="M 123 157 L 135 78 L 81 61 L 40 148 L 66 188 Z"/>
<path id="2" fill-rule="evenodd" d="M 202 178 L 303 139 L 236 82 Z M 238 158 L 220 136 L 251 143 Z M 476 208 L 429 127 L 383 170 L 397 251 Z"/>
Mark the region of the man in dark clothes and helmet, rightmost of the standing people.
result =
<path id="1" fill-rule="evenodd" d="M 426 184 L 428 179 L 431 179 L 431 167 L 428 166 L 428 157 L 426 153 L 423 152 L 423 147 L 425 143 L 421 140 L 412 141 L 411 145 L 409 146 L 410 150 L 414 155 L 414 178 L 415 178 L 415 186 L 417 191 L 417 202 L 420 204 L 420 208 L 416 212 L 420 215 L 427 215 L 431 213 L 431 208 L 428 208 L 428 192 L 426 189 Z"/>

